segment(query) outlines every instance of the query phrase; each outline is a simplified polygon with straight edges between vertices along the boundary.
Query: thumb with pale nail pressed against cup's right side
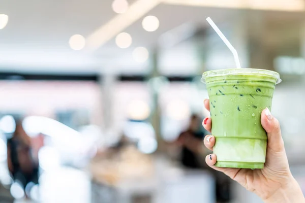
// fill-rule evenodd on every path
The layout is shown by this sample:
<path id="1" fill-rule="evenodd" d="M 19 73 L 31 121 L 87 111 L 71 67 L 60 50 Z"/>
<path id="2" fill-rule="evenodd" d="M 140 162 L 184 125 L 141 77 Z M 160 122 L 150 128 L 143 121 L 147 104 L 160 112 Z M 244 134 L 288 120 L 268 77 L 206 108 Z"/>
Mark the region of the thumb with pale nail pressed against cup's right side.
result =
<path id="1" fill-rule="evenodd" d="M 261 124 L 267 132 L 268 148 L 275 152 L 283 151 L 284 141 L 282 139 L 280 123 L 278 119 L 272 116 L 268 108 L 264 109 L 261 114 Z"/>

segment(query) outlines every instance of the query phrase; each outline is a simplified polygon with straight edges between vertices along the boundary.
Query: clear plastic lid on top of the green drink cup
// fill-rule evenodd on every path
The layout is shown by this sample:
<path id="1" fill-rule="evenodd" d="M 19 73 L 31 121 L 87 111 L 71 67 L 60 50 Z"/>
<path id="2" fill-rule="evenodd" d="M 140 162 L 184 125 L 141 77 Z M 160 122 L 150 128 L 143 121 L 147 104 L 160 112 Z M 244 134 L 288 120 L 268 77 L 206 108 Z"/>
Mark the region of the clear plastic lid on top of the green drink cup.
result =
<path id="1" fill-rule="evenodd" d="M 201 81 L 205 83 L 207 78 L 218 76 L 269 76 L 277 80 L 276 84 L 282 82 L 280 74 L 274 71 L 263 69 L 222 69 L 215 71 L 207 71 L 202 74 Z"/>

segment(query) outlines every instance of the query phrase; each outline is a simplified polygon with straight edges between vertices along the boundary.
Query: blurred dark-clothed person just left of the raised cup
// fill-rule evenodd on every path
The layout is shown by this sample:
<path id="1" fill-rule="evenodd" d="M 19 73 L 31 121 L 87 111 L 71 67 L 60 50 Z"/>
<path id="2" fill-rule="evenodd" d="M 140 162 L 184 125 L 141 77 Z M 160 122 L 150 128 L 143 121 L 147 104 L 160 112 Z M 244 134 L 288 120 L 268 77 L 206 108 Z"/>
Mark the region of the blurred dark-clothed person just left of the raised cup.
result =
<path id="1" fill-rule="evenodd" d="M 186 131 L 181 132 L 176 144 L 182 147 L 181 163 L 187 168 L 202 168 L 200 164 L 199 155 L 203 152 L 202 140 L 205 136 L 201 130 L 201 120 L 199 116 L 193 114 Z"/>

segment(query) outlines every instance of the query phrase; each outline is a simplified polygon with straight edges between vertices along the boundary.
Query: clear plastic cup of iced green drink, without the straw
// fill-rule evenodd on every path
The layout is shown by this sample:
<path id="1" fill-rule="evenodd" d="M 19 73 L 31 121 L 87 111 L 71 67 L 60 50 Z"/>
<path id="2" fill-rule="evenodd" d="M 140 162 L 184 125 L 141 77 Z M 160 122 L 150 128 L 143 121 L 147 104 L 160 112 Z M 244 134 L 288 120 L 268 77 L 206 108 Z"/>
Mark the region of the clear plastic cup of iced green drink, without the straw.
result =
<path id="1" fill-rule="evenodd" d="M 213 148 L 218 167 L 263 168 L 267 134 L 262 111 L 271 110 L 280 75 L 259 69 L 228 69 L 203 74 L 210 99 Z"/>

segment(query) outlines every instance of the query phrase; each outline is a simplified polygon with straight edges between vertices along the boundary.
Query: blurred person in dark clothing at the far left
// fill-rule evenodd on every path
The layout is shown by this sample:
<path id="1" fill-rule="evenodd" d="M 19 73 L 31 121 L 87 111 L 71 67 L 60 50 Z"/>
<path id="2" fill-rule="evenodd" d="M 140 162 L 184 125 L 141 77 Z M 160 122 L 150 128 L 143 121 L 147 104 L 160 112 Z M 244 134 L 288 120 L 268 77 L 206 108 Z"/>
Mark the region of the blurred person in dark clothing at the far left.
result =
<path id="1" fill-rule="evenodd" d="M 33 159 L 31 138 L 24 131 L 22 120 L 16 122 L 16 129 L 13 137 L 8 140 L 7 150 L 8 167 L 14 181 L 19 182 L 24 191 L 28 183 L 38 184 L 38 162 Z"/>

